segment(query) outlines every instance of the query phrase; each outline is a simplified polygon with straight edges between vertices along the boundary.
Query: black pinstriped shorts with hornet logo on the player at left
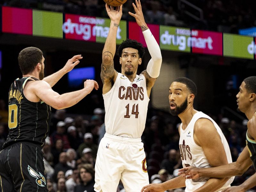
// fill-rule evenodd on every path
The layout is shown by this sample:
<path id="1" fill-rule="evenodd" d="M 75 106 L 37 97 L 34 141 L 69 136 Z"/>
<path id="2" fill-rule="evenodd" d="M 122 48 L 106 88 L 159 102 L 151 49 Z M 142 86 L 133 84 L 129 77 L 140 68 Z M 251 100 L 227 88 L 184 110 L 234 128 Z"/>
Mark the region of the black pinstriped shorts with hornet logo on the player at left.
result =
<path id="1" fill-rule="evenodd" d="M 15 143 L 0 152 L 0 191 L 48 192 L 40 146 Z"/>

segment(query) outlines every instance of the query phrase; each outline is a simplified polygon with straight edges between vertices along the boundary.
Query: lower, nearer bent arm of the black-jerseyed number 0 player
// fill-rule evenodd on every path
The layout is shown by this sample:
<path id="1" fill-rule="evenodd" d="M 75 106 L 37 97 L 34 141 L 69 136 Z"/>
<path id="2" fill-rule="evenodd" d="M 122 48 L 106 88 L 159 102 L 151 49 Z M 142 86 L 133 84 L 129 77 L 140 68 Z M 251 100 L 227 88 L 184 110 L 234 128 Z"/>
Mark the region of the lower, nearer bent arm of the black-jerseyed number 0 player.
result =
<path id="1" fill-rule="evenodd" d="M 27 89 L 30 92 L 29 94 L 35 94 L 40 100 L 44 101 L 46 104 L 55 109 L 71 107 L 92 92 L 93 88 L 96 90 L 99 88 L 96 81 L 86 80 L 84 82 L 83 89 L 60 95 L 59 93 L 53 91 L 51 86 L 45 81 L 35 81 L 27 86 Z"/>

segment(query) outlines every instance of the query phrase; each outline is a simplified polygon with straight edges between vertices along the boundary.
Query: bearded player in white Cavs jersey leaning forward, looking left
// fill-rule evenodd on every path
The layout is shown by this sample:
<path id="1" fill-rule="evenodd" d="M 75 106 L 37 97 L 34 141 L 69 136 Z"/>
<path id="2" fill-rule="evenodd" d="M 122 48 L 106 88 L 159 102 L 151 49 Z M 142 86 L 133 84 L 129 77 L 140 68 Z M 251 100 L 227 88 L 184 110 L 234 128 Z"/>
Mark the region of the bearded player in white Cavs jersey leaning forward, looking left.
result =
<path id="1" fill-rule="evenodd" d="M 186 77 L 179 77 L 169 88 L 169 102 L 172 115 L 178 115 L 181 120 L 180 156 L 182 166 L 215 167 L 232 162 L 228 142 L 220 127 L 201 111 L 193 107 L 196 97 L 196 84 Z M 168 189 L 186 187 L 185 191 L 213 192 L 221 191 L 230 186 L 234 178 L 201 178 L 200 180 L 185 180 L 178 176 L 160 184 L 149 184 L 141 192 L 166 191 Z"/>

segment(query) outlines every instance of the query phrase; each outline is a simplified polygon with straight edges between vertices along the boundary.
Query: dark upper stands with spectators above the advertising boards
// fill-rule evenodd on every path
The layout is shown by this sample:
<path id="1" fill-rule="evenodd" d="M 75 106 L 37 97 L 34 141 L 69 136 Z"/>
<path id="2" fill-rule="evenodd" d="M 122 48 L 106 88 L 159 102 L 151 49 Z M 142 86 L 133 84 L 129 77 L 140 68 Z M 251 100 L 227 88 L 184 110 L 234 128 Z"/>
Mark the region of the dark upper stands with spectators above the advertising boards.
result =
<path id="1" fill-rule="evenodd" d="M 238 29 L 256 26 L 256 6 L 253 0 L 246 3 L 239 0 L 187 1 L 202 9 L 203 18 L 200 18 L 199 11 L 183 1 L 141 0 L 146 22 L 236 34 Z M 132 2 L 128 0 L 125 3 L 123 20 L 134 20 L 128 14 L 129 11 L 134 12 Z M 0 0 L 0 5 L 108 18 L 103 0 Z M 199 19 L 188 16 L 186 11 Z"/>

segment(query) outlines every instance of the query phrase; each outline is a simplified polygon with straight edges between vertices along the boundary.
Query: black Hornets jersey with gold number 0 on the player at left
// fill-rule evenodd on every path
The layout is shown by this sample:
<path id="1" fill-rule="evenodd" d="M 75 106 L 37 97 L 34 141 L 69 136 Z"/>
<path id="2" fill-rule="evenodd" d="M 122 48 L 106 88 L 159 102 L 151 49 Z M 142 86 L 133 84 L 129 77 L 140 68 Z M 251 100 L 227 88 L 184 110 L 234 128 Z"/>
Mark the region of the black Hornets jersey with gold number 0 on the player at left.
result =
<path id="1" fill-rule="evenodd" d="M 35 77 L 16 79 L 9 90 L 9 134 L 3 148 L 17 142 L 31 142 L 44 146 L 51 120 L 51 107 L 41 102 L 31 102 L 24 95 L 27 81 Z"/>

